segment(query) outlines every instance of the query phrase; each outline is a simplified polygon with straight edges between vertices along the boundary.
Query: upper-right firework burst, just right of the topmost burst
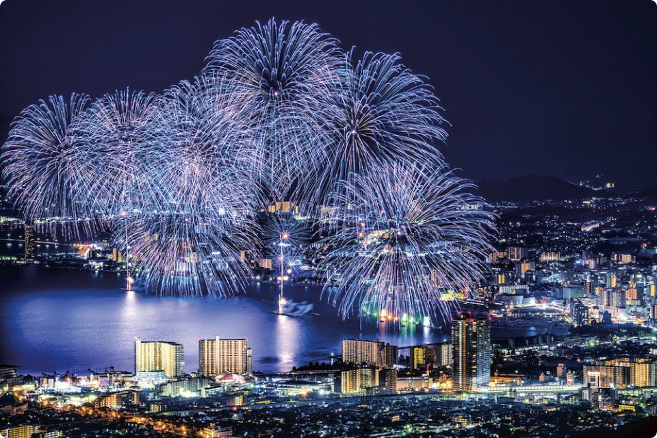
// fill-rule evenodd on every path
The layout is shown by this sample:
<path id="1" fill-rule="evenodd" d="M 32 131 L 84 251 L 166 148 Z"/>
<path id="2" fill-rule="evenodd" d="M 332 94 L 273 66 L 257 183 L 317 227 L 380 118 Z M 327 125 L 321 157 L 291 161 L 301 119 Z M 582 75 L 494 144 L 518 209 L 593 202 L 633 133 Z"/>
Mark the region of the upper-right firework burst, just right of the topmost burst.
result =
<path id="1" fill-rule="evenodd" d="M 337 110 L 322 114 L 329 141 L 322 142 L 330 161 L 322 166 L 315 196 L 323 199 L 337 181 L 381 172 L 393 164 L 440 163 L 435 144 L 447 133 L 433 90 L 400 64 L 399 55 L 365 53 L 344 57 Z"/>

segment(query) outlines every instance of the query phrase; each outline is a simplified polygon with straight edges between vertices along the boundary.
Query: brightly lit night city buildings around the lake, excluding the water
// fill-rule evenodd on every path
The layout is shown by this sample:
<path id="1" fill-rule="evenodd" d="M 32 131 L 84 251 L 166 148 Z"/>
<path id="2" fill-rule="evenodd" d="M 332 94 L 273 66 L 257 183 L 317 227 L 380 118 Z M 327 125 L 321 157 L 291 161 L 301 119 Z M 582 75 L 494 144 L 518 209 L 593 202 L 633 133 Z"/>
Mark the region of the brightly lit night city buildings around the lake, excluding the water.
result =
<path id="1" fill-rule="evenodd" d="M 341 339 L 337 354 L 285 372 L 254 369 L 259 352 L 249 340 L 221 333 L 196 345 L 132 339 L 129 369 L 31 376 L 20 371 L 30 364 L 3 365 L 3 400 L 14 400 L 3 410 L 3 436 L 548 437 L 654 427 L 657 198 L 611 184 L 572 186 L 590 198 L 494 203 L 500 250 L 452 315 L 447 341 Z M 268 214 L 288 208 L 274 203 Z M 24 254 L 5 256 L 5 267 L 123 278 L 116 248 L 40 252 L 46 245 L 20 222 L 3 217 L 3 230 L 27 230 Z M 316 281 L 301 259 L 309 266 L 285 287 Z M 276 268 L 254 272 L 254 281 L 279 287 Z M 276 299 L 269 305 L 275 313 Z M 318 318 L 311 313 L 275 318 Z M 387 315 L 379 316 L 385 334 Z M 418 320 L 413 330 L 437 328 Z M 185 361 L 190 349 L 195 363 Z M 537 416 L 552 426 L 537 426 Z"/>

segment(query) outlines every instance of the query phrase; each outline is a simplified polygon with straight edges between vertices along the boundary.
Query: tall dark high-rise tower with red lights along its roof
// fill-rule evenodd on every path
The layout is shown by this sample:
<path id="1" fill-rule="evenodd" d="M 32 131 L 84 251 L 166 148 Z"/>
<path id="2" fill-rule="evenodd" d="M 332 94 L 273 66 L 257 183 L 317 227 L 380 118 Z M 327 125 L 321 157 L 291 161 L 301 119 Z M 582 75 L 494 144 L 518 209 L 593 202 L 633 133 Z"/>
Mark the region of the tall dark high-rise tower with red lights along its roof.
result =
<path id="1" fill-rule="evenodd" d="M 471 391 L 491 382 L 491 322 L 469 313 L 452 319 L 453 386 Z"/>

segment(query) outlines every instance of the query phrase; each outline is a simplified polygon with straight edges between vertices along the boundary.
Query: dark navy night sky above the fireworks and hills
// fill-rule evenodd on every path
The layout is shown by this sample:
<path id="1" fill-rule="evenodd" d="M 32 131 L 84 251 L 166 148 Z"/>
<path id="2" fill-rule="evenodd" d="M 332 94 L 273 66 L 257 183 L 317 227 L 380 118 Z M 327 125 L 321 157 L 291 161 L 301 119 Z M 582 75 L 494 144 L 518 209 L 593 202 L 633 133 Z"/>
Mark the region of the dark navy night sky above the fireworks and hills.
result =
<path id="1" fill-rule="evenodd" d="M 0 141 L 49 94 L 162 92 L 215 40 L 272 16 L 318 23 L 345 49 L 400 52 L 441 99 L 443 153 L 466 177 L 657 185 L 653 0 L 5 0 Z"/>

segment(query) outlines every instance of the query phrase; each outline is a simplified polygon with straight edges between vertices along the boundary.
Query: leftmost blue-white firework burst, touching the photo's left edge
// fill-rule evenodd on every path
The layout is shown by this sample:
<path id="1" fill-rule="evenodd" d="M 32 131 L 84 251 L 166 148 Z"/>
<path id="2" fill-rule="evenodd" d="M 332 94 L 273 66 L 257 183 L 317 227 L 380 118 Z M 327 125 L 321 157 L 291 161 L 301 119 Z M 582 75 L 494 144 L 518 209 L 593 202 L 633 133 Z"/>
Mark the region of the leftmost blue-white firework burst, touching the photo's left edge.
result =
<path id="1" fill-rule="evenodd" d="M 89 96 L 73 93 L 68 103 L 63 96 L 49 96 L 48 101 L 30 105 L 14 120 L 2 146 L 2 177 L 26 220 L 69 218 L 64 222 L 68 236 L 79 235 L 78 219 L 92 217 L 77 202 L 71 183 L 77 177 L 71 125 L 88 103 Z M 54 227 L 44 231 L 54 235 Z"/>

